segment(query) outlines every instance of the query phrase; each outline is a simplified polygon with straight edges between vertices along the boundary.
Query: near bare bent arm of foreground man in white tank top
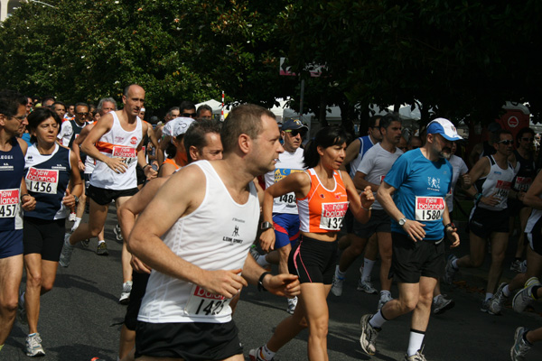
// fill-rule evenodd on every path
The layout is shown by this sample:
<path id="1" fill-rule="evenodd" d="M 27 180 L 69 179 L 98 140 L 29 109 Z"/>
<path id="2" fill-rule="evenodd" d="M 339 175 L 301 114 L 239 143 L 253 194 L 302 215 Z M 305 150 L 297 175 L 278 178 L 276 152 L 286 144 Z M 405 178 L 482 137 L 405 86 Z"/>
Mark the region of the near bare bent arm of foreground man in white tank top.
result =
<path id="1" fill-rule="evenodd" d="M 202 270 L 173 254 L 160 238 L 179 218 L 191 214 L 201 205 L 205 187 L 205 175 L 197 166 L 189 166 L 173 174 L 135 221 L 127 241 L 128 251 L 160 273 L 231 298 L 243 285 L 247 285 L 245 279 L 238 274 L 240 269 Z"/>

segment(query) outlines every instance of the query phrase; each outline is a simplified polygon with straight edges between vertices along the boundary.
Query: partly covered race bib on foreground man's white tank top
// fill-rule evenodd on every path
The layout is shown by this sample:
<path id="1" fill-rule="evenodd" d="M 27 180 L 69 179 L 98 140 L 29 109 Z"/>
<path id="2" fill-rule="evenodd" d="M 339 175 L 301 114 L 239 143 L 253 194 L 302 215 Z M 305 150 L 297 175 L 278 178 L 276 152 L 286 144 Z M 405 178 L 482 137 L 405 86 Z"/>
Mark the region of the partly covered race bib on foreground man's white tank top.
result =
<path id="1" fill-rule="evenodd" d="M 222 316 L 231 313 L 229 301 L 224 296 L 207 292 L 197 284 L 192 287 L 192 294 L 186 308 L 186 313 L 191 316 Z"/>

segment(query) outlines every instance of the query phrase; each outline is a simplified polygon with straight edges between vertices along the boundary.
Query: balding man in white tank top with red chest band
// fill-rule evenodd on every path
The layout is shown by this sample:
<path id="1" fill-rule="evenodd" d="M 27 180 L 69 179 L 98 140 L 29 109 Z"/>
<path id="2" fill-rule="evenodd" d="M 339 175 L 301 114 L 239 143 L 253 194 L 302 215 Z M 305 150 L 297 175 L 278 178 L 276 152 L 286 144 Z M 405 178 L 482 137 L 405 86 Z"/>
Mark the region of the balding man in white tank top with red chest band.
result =
<path id="1" fill-rule="evenodd" d="M 145 102 L 145 89 L 136 84 L 126 87 L 122 101 L 124 108 L 102 116 L 81 144 L 81 150 L 97 161 L 89 186 L 89 223 L 81 224 L 70 237 L 66 236 L 60 261 L 63 267 L 70 265 L 74 245 L 98 236 L 106 223 L 109 204 L 115 200 L 120 207 L 137 192 L 135 160 L 147 178 L 156 175 L 156 171 L 145 163 L 145 153 L 141 150 L 147 126 L 150 126 L 137 116 Z M 99 143 L 96 144 L 99 150 L 95 143 Z M 104 246 L 105 243 L 98 245 L 98 251 Z M 126 244 L 123 244 L 122 266 L 123 283 L 127 286 L 131 281 L 132 267 Z M 129 292 L 125 291 L 124 285 L 123 292 Z"/>

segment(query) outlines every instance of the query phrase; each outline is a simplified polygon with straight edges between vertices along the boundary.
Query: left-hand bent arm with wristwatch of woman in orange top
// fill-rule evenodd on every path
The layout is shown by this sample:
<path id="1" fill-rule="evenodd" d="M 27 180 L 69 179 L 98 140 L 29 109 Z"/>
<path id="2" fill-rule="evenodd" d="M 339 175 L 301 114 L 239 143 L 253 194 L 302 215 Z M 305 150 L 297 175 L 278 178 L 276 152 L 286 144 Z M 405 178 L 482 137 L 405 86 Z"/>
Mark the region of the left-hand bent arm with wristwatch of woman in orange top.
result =
<path id="1" fill-rule="evenodd" d="M 264 192 L 264 204 L 262 206 L 264 221 L 273 223 L 273 199 L 290 192 L 294 192 L 297 198 L 304 198 L 309 190 L 311 190 L 311 179 L 305 172 L 292 173 L 285 179 L 277 181 Z M 275 231 L 273 228 L 266 229 L 261 233 L 260 245 L 265 252 L 275 249 Z"/>

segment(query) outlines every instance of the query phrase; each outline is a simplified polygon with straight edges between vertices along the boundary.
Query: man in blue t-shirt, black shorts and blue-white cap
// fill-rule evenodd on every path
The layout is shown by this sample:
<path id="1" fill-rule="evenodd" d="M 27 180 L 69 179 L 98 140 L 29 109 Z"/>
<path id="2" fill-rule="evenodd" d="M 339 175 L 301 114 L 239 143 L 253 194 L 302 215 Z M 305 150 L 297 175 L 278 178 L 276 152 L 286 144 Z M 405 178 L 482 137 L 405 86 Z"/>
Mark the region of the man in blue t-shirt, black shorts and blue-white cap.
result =
<path id="1" fill-rule="evenodd" d="M 413 311 L 405 360 L 425 359 L 421 348 L 433 291 L 444 271 L 444 233 L 453 247 L 459 245 L 444 198 L 453 175 L 446 159 L 451 156 L 452 142 L 460 139 L 449 120 L 435 119 L 427 125 L 425 145 L 400 156 L 378 188 L 378 202 L 391 218 L 389 277 L 397 281 L 399 298 L 388 301 L 376 314 L 361 318 L 360 344 L 369 355 L 376 352 L 382 325 Z"/>

